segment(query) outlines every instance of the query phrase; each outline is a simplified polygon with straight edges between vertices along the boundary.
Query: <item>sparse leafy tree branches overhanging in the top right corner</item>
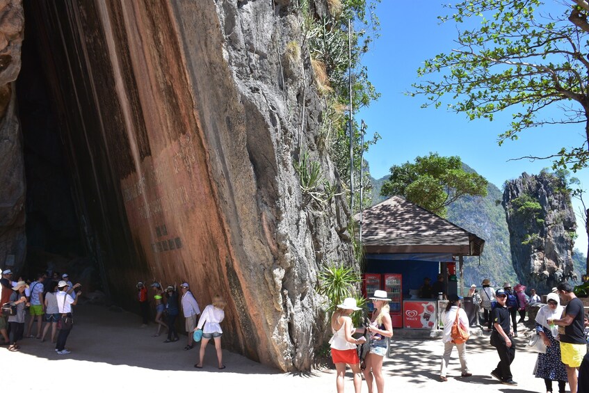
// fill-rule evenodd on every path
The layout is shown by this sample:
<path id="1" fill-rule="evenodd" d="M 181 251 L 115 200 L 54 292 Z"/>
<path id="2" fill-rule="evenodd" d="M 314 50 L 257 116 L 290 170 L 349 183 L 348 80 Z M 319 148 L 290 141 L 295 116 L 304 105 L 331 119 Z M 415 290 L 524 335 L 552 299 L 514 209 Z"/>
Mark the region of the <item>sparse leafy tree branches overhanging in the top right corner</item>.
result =
<path id="1" fill-rule="evenodd" d="M 499 145 L 516 140 L 524 129 L 543 125 L 579 124 L 583 141 L 556 147 L 548 157 L 554 168 L 585 168 L 589 162 L 589 5 L 575 0 L 560 15 L 545 10 L 540 0 L 467 0 L 446 6 L 451 15 L 439 17 L 459 26 L 457 47 L 438 54 L 418 70 L 419 77 L 440 74 L 413 85 L 410 95 L 425 95 L 423 106 L 449 109 L 470 120 L 493 120 L 509 109 L 513 119 L 499 134 Z M 554 7 L 553 7 L 554 8 Z M 474 29 L 460 25 L 480 19 Z M 558 108 L 560 116 L 544 111 Z"/>

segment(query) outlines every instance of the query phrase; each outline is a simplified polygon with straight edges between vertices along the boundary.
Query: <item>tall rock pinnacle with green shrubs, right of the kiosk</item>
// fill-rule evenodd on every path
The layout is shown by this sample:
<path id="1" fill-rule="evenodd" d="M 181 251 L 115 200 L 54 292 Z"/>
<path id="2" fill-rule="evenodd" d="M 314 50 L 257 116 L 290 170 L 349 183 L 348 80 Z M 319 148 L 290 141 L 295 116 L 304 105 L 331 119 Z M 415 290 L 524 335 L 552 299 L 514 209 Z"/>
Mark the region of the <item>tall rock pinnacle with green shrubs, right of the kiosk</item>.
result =
<path id="1" fill-rule="evenodd" d="M 506 182 L 503 207 L 519 282 L 547 294 L 559 282 L 574 278 L 576 220 L 563 179 L 524 173 Z"/>

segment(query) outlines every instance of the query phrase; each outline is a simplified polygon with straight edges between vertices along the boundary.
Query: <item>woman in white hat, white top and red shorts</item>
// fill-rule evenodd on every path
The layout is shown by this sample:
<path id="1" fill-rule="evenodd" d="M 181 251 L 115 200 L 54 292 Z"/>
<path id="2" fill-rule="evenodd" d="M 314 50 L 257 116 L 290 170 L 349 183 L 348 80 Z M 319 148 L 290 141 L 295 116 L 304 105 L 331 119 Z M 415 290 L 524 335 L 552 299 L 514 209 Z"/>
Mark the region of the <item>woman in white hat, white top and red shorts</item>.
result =
<path id="1" fill-rule="evenodd" d="M 352 326 L 352 319 L 350 315 L 360 310 L 356 306 L 355 298 L 346 298 L 344 303 L 337 305 L 337 310 L 331 317 L 331 328 L 333 337 L 330 340 L 331 344 L 331 358 L 335 364 L 337 376 L 335 385 L 337 393 L 344 392 L 344 376 L 346 375 L 346 364 L 350 365 L 354 373 L 354 390 L 360 393 L 362 388 L 362 371 L 360 370 L 360 358 L 356 351 L 357 344 L 362 344 L 366 339 L 360 337 L 355 339 L 352 337 L 355 329 Z"/>

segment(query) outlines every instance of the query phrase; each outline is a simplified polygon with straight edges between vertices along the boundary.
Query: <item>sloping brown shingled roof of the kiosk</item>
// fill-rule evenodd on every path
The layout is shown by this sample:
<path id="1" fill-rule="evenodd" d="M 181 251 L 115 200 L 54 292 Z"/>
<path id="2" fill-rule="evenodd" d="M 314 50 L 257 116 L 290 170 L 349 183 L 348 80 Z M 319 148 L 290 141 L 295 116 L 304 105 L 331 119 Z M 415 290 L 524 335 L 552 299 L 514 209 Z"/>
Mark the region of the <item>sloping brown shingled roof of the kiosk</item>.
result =
<path id="1" fill-rule="evenodd" d="M 360 214 L 354 218 L 360 220 Z M 417 204 L 394 196 L 362 212 L 362 244 L 368 253 L 481 255 L 485 241 Z"/>

